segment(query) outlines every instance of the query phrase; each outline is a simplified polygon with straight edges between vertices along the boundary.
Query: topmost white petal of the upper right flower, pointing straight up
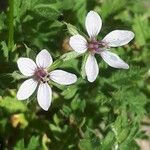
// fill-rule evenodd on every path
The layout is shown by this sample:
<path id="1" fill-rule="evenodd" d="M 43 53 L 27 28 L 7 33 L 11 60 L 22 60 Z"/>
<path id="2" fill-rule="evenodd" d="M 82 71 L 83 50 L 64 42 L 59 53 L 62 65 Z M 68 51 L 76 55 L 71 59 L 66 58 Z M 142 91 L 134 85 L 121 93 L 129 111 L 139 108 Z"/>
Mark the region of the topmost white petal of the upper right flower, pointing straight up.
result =
<path id="1" fill-rule="evenodd" d="M 90 38 L 98 35 L 102 27 L 102 19 L 95 11 L 90 11 L 85 20 L 85 27 Z"/>

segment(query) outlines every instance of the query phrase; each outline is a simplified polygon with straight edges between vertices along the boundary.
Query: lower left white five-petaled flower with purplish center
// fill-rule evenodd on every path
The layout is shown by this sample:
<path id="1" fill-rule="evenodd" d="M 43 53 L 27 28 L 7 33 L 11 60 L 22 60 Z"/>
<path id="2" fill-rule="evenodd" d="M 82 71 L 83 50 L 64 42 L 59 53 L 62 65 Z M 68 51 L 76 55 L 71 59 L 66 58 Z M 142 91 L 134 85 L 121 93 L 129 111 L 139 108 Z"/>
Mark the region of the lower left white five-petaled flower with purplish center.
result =
<path id="1" fill-rule="evenodd" d="M 17 64 L 20 72 L 24 76 L 30 77 L 20 86 L 17 92 L 18 100 L 29 98 L 38 86 L 38 103 L 47 111 L 52 100 L 52 90 L 47 81 L 53 80 L 61 85 L 69 85 L 77 81 L 76 75 L 63 70 L 54 70 L 48 73 L 46 69 L 52 63 L 52 57 L 45 49 L 36 56 L 36 63 L 29 58 L 18 59 Z"/>

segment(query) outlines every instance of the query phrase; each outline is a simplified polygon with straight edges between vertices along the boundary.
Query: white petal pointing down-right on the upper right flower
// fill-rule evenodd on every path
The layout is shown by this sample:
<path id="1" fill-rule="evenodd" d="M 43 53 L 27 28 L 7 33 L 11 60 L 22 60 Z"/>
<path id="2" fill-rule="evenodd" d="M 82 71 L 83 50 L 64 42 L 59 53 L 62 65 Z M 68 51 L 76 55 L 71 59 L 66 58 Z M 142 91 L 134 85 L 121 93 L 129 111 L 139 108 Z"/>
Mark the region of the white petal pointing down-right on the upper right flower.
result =
<path id="1" fill-rule="evenodd" d="M 111 67 L 129 69 L 129 65 L 127 63 L 125 63 L 118 55 L 108 50 L 101 52 L 101 56 L 104 61 Z"/>

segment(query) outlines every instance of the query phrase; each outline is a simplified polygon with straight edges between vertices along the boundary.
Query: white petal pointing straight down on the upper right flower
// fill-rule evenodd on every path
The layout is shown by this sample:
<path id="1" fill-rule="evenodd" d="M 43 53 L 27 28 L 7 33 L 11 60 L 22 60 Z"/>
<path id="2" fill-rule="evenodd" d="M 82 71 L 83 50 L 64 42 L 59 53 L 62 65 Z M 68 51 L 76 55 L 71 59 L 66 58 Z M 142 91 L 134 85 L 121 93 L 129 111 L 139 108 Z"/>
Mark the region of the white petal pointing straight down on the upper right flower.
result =
<path id="1" fill-rule="evenodd" d="M 97 61 L 93 55 L 89 55 L 85 64 L 85 72 L 89 82 L 94 82 L 98 73 L 99 68 Z"/>

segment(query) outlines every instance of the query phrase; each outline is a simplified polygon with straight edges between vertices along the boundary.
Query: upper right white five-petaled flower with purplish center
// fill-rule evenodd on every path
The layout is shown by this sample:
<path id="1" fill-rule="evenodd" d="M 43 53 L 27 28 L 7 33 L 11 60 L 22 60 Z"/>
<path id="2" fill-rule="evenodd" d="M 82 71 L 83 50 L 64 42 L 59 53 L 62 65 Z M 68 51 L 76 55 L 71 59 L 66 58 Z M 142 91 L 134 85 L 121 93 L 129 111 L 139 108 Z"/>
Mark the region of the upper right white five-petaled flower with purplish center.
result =
<path id="1" fill-rule="evenodd" d="M 109 51 L 110 47 L 118 47 L 128 44 L 134 33 L 127 30 L 114 30 L 107 34 L 102 40 L 97 40 L 96 36 L 101 30 L 102 20 L 100 16 L 90 11 L 86 16 L 85 26 L 89 39 L 77 34 L 70 38 L 70 46 L 78 53 L 89 51 L 89 56 L 85 64 L 85 72 L 89 82 L 95 81 L 99 68 L 95 59 L 95 54 L 99 54 L 103 60 L 111 67 L 128 69 L 129 66 L 119 56 Z"/>

